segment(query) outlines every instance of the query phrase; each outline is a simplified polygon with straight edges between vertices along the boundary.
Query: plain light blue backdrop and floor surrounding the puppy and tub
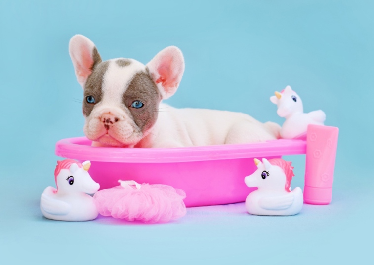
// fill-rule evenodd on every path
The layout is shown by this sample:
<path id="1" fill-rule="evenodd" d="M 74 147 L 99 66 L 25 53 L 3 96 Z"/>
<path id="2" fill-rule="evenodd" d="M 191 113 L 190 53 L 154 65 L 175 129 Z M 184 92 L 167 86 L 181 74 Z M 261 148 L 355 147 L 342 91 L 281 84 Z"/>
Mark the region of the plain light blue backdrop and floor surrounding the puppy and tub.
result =
<path id="1" fill-rule="evenodd" d="M 372 1 L 0 0 L 0 263 L 366 263 L 373 251 Z M 258 217 L 244 204 L 188 209 L 164 225 L 46 220 L 57 140 L 83 135 L 74 34 L 103 59 L 147 63 L 168 45 L 186 70 L 175 107 L 282 123 L 269 97 L 291 85 L 305 111 L 340 128 L 332 204 Z M 77 100 L 78 99 L 78 100 Z M 303 156 L 292 187 L 303 187 Z"/>

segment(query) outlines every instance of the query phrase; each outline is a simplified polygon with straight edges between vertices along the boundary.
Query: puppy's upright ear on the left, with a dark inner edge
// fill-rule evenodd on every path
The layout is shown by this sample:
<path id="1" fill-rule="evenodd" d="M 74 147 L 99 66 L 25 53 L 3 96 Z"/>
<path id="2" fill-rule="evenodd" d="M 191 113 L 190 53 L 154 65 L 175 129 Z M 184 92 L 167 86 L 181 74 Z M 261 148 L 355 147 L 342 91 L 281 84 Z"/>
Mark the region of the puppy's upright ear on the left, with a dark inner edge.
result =
<path id="1" fill-rule="evenodd" d="M 101 63 L 101 57 L 95 44 L 83 36 L 74 35 L 69 42 L 69 54 L 72 59 L 78 83 L 84 88 L 87 78 L 95 65 Z"/>

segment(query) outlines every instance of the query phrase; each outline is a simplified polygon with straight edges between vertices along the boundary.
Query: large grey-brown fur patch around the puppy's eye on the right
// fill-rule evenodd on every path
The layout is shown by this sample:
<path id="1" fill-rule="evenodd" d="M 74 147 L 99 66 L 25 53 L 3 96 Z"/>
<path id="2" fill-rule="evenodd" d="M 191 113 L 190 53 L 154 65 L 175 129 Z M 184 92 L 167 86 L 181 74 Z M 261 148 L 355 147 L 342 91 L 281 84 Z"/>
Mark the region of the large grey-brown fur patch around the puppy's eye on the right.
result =
<path id="1" fill-rule="evenodd" d="M 144 106 L 139 109 L 132 108 L 131 104 L 135 100 L 143 102 Z M 143 132 L 155 124 L 160 101 L 160 91 L 146 72 L 135 74 L 123 95 L 125 107 L 129 109 L 134 122 Z"/>

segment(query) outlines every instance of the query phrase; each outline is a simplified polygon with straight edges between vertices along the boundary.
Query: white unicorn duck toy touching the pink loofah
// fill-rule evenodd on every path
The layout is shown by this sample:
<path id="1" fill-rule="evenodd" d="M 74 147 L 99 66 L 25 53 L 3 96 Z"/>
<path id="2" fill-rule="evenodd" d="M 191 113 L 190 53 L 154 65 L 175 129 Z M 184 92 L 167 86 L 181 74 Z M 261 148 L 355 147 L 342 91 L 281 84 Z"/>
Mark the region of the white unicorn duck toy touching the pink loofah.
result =
<path id="1" fill-rule="evenodd" d="M 88 194 L 95 193 L 100 185 L 88 174 L 90 166 L 89 161 L 82 164 L 73 159 L 57 161 L 54 171 L 57 189 L 47 187 L 40 200 L 40 208 L 46 218 L 88 221 L 97 217 L 94 200 Z"/>

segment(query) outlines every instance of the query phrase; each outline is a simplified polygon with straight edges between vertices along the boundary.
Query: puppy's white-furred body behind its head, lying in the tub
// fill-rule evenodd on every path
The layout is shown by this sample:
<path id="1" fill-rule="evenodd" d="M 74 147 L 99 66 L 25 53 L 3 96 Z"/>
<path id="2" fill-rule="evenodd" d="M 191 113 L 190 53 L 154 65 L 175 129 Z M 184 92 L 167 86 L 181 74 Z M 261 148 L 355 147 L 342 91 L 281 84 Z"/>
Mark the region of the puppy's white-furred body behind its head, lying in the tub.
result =
<path id="1" fill-rule="evenodd" d="M 138 147 L 243 144 L 276 139 L 279 125 L 261 123 L 243 113 L 176 109 L 160 104 L 155 126 Z"/>

